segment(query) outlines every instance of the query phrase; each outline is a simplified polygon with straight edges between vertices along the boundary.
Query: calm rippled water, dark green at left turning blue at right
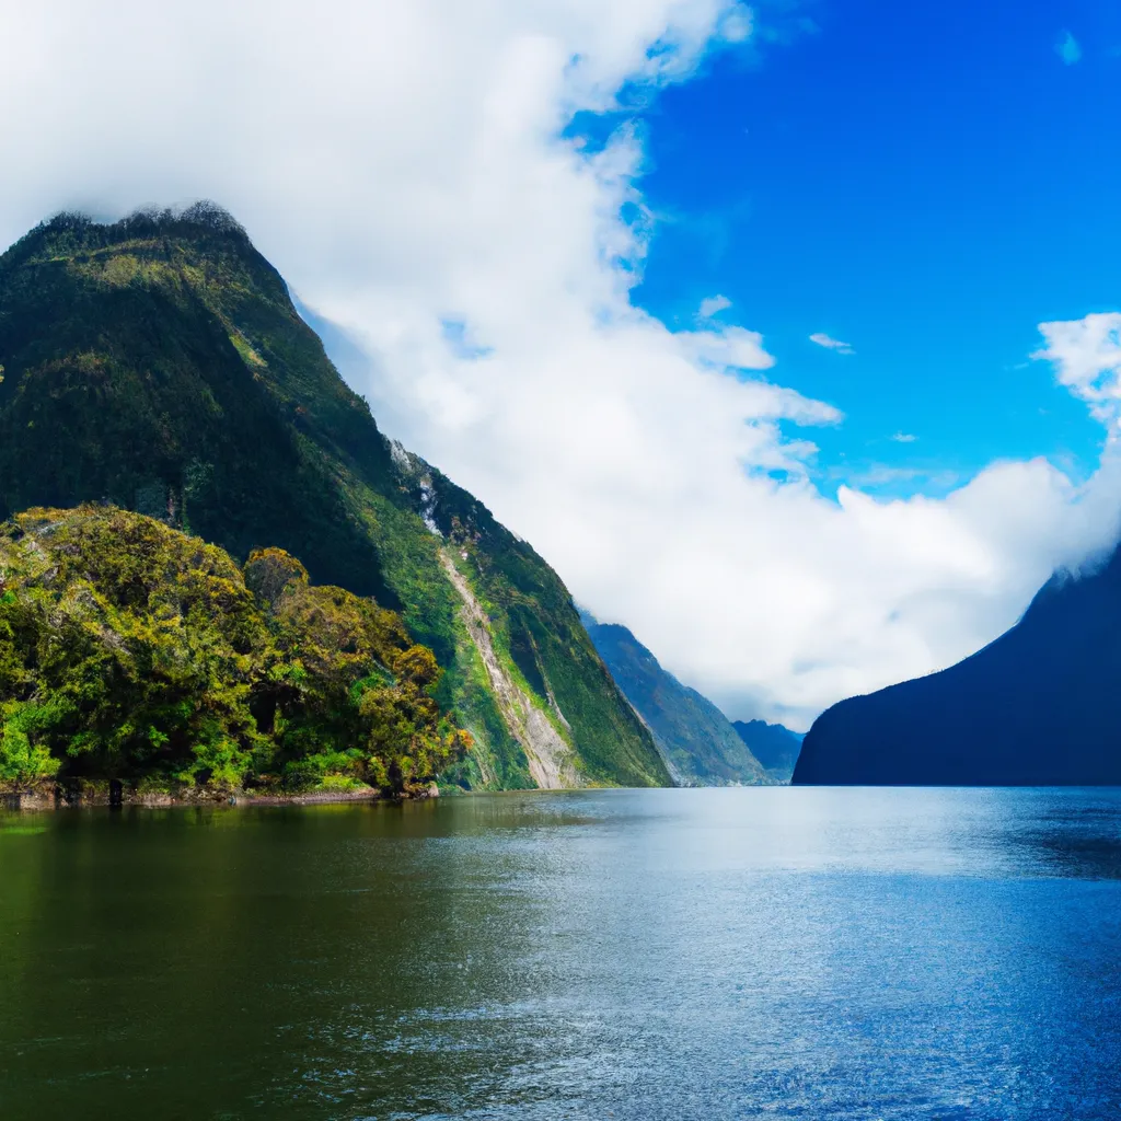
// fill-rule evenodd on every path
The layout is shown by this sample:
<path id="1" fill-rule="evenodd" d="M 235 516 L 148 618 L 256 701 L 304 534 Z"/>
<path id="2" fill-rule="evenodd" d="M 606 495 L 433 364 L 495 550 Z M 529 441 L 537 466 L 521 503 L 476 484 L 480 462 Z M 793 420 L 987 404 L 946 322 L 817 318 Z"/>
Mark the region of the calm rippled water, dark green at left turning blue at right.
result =
<path id="1" fill-rule="evenodd" d="M 0 816 L 0 1115 L 1121 1115 L 1121 791 Z"/>

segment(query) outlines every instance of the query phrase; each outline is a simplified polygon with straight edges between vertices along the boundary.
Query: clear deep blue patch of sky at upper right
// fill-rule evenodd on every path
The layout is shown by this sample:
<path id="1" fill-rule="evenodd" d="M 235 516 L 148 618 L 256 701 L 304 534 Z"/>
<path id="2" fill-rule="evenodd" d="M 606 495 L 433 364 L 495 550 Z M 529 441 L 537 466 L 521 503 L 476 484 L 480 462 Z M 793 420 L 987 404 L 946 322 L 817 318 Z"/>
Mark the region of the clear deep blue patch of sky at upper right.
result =
<path id="1" fill-rule="evenodd" d="M 1121 4 L 756 18 L 747 52 L 640 113 L 656 222 L 636 302 L 686 325 L 729 297 L 778 380 L 845 413 L 813 434 L 826 488 L 938 493 L 1034 455 L 1084 476 L 1101 428 L 1028 354 L 1037 323 L 1121 302 Z"/>

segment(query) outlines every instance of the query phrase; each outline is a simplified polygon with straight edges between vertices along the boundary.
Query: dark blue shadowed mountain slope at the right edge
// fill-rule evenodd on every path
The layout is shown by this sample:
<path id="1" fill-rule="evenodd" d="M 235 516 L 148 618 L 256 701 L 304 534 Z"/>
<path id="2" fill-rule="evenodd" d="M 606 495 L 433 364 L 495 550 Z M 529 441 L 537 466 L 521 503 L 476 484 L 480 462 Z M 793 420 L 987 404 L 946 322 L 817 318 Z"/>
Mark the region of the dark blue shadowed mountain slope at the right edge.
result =
<path id="1" fill-rule="evenodd" d="M 795 782 L 1121 784 L 1121 552 L 1056 574 L 1023 618 L 928 677 L 842 701 L 806 735 Z"/>

